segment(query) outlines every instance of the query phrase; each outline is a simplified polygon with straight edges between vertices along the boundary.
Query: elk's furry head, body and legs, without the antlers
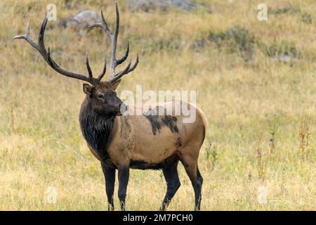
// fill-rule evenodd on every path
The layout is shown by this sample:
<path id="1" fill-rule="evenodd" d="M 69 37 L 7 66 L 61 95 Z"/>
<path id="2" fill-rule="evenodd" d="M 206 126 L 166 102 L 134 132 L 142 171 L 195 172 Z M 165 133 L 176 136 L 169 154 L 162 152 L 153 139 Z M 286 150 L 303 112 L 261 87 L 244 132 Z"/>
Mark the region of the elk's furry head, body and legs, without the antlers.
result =
<path id="1" fill-rule="evenodd" d="M 88 85 L 88 84 L 85 84 Z M 116 87 L 116 86 L 115 86 Z M 195 207 L 201 202 L 202 176 L 197 165 L 199 150 L 205 138 L 206 117 L 196 105 L 187 103 L 195 110 L 195 121 L 185 123 L 185 115 L 175 115 L 182 108 L 183 101 L 169 101 L 150 105 L 142 115 L 136 115 L 138 108 L 129 109 L 121 115 L 113 86 L 103 82 L 97 86 L 85 86 L 87 96 L 81 105 L 80 124 L 82 133 L 93 155 L 101 161 L 105 172 L 119 169 L 124 191 L 119 191 L 121 209 L 124 209 L 129 172 L 126 169 L 163 169 L 168 190 L 162 210 L 180 186 L 176 166 L 182 162 L 195 189 Z M 99 98 L 103 96 L 103 98 Z M 173 114 L 166 115 L 166 108 L 173 105 Z M 162 115 L 150 115 L 152 110 L 162 110 Z M 119 176 L 120 177 L 120 176 Z M 106 174 L 105 174 L 106 178 Z M 172 184 L 168 184 L 171 182 Z M 111 183 L 114 187 L 114 183 Z M 112 190 L 112 189 L 111 189 Z M 113 191 L 113 190 L 112 190 Z M 108 196 L 112 191 L 107 192 Z M 108 197 L 112 208 L 111 197 Z M 122 206 L 123 205 L 123 206 Z"/>

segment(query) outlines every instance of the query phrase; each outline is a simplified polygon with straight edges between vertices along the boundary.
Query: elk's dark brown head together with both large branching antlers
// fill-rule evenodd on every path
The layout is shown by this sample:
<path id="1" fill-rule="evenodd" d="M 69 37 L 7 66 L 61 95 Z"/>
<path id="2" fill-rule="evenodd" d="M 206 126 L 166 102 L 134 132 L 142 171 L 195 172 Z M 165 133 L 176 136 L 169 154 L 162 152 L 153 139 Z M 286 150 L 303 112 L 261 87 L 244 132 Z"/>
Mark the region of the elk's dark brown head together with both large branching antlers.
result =
<path id="1" fill-rule="evenodd" d="M 126 58 L 129 56 L 129 43 L 127 45 L 126 52 L 123 57 L 117 59 L 116 58 L 116 51 L 117 51 L 117 36 L 119 34 L 119 8 L 117 6 L 117 3 L 115 3 L 116 13 L 117 13 L 117 21 L 116 21 L 116 27 L 114 34 L 111 32 L 110 28 L 108 27 L 107 23 L 105 22 L 105 18 L 103 16 L 103 11 L 101 10 L 101 18 L 102 23 L 95 23 L 90 26 L 92 27 L 101 27 L 107 36 L 109 37 L 110 41 L 112 42 L 112 53 L 111 53 L 111 60 L 110 60 L 110 78 L 107 81 L 102 82 L 101 79 L 105 75 L 106 72 L 106 58 L 105 63 L 103 66 L 103 71 L 98 77 L 93 77 L 92 70 L 89 65 L 88 60 L 88 54 L 86 56 L 86 68 L 88 70 L 88 75 L 80 75 L 74 72 L 68 72 L 65 69 L 60 68 L 60 66 L 55 63 L 53 58 L 51 58 L 51 51 L 48 47 L 48 50 L 46 50 L 46 47 L 44 45 L 44 34 L 45 34 L 45 28 L 47 25 L 48 20 L 48 13 L 46 13 L 46 16 L 44 18 L 43 23 L 41 23 L 41 29 L 39 31 L 39 41 L 36 43 L 34 40 L 32 40 L 29 37 L 29 22 L 27 23 L 26 28 L 26 34 L 24 35 L 18 35 L 13 37 L 13 39 L 25 39 L 34 49 L 37 49 L 41 56 L 44 58 L 46 63 L 53 68 L 56 72 L 60 73 L 61 75 L 64 75 L 66 77 L 72 77 L 75 79 L 81 79 L 85 82 L 90 83 L 84 84 L 84 93 L 86 94 L 86 98 L 88 98 L 89 103 L 91 103 L 91 107 L 93 110 L 98 113 L 99 115 L 121 115 L 121 111 L 126 110 L 126 105 L 117 97 L 117 94 L 115 92 L 115 89 L 117 89 L 117 86 L 121 82 L 121 77 L 128 74 L 129 72 L 133 71 L 136 66 L 138 65 L 138 55 L 136 58 L 136 62 L 131 67 L 131 60 L 129 64 L 126 66 L 124 70 L 121 72 L 116 73 L 115 68 L 117 65 L 120 65 L 123 63 Z"/>

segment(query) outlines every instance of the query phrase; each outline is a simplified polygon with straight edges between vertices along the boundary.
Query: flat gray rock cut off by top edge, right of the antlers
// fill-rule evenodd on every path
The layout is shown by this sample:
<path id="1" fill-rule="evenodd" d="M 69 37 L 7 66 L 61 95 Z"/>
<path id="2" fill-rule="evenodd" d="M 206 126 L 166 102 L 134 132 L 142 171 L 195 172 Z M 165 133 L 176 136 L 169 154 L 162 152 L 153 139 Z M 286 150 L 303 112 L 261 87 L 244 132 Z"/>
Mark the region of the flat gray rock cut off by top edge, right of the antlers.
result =
<path id="1" fill-rule="evenodd" d="M 190 0 L 126 0 L 126 2 L 132 11 L 166 11 L 170 6 L 185 11 L 203 8 L 201 5 L 192 3 Z"/>

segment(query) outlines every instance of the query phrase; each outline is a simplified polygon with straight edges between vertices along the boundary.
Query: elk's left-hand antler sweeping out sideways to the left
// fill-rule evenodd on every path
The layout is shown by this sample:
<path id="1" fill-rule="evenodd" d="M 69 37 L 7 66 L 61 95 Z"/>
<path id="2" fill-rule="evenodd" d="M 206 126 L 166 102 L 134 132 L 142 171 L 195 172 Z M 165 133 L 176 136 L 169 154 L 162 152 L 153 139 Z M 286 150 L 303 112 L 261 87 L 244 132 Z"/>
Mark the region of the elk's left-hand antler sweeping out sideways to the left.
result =
<path id="1" fill-rule="evenodd" d="M 45 48 L 44 45 L 44 34 L 45 34 L 45 28 L 46 28 L 46 24 L 47 24 L 47 20 L 48 20 L 48 12 L 46 13 L 45 19 L 43 21 L 43 23 L 41 23 L 41 29 L 39 30 L 39 43 L 36 43 L 35 41 L 33 41 L 30 37 L 29 37 L 29 22 L 27 22 L 27 27 L 26 27 L 26 34 L 24 35 L 18 35 L 13 37 L 13 39 L 25 39 L 25 41 L 27 41 L 34 49 L 37 49 L 37 51 L 39 51 L 39 53 L 41 53 L 41 56 L 44 58 L 44 60 L 46 61 L 46 63 L 48 63 L 48 65 L 53 68 L 53 70 L 55 70 L 56 72 L 65 75 L 66 77 L 72 77 L 75 79 L 81 79 L 84 80 L 85 82 L 89 82 L 92 85 L 96 85 L 96 84 L 100 84 L 100 80 L 103 78 L 103 76 L 105 75 L 105 71 L 106 71 L 106 60 L 104 63 L 104 67 L 103 67 L 103 71 L 100 74 L 100 76 L 98 76 L 98 78 L 94 78 L 91 72 L 91 68 L 89 65 L 89 60 L 88 60 L 88 55 L 86 56 L 86 68 L 88 70 L 88 76 L 86 75 L 80 75 L 74 72 L 68 72 L 67 70 L 64 70 L 62 68 L 60 68 L 60 66 L 55 63 L 55 61 L 53 60 L 53 58 L 51 58 L 51 51 L 48 48 L 48 51 Z"/>

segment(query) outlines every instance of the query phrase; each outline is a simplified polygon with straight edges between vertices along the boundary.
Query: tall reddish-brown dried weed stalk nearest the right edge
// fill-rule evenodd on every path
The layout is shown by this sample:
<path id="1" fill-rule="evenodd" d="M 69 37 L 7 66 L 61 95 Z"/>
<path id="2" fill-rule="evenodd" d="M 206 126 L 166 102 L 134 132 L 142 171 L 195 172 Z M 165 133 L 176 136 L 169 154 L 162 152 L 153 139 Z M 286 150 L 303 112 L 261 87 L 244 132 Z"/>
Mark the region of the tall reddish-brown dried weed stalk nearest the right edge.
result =
<path id="1" fill-rule="evenodd" d="M 301 126 L 299 131 L 300 136 L 300 150 L 302 159 L 306 160 L 309 155 L 308 150 L 308 136 L 310 135 L 310 116 L 308 113 L 304 113 L 301 118 Z"/>

